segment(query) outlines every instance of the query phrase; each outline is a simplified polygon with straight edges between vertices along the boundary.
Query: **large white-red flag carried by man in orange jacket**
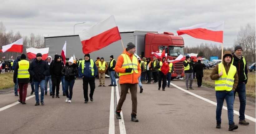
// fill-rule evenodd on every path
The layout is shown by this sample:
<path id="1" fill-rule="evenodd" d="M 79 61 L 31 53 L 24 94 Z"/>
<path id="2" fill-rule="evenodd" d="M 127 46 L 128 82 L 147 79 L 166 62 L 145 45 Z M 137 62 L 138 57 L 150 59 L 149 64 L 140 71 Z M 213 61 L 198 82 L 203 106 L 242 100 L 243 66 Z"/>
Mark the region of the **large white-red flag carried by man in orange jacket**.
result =
<path id="1" fill-rule="evenodd" d="M 121 40 L 113 15 L 81 32 L 79 37 L 84 54 L 100 50 L 113 42 Z"/>

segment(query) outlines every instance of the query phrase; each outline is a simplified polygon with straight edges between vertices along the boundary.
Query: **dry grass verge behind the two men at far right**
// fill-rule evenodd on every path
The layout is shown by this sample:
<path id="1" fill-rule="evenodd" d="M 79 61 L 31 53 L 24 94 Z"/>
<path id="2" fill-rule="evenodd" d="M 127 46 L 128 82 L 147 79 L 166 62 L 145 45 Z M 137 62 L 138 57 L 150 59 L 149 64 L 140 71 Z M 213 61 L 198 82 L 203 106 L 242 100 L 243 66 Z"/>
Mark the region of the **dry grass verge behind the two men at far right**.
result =
<path id="1" fill-rule="evenodd" d="M 215 82 L 210 78 L 210 74 L 212 70 L 204 69 L 203 71 L 204 71 L 204 77 L 202 80 L 203 81 L 202 84 L 204 84 L 207 87 L 214 88 Z M 245 88 L 246 88 L 246 96 L 255 98 L 255 74 L 250 74 L 250 73 L 248 74 L 248 82 Z"/>

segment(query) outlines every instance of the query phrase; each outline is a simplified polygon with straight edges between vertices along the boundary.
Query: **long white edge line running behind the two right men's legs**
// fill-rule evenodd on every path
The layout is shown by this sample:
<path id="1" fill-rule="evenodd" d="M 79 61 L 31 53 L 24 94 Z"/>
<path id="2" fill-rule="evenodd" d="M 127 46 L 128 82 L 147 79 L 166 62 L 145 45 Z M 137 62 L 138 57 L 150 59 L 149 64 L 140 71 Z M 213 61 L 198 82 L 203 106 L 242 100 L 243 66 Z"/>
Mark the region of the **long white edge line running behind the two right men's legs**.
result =
<path id="1" fill-rule="evenodd" d="M 213 101 L 211 101 L 211 100 L 209 100 L 209 99 L 207 99 L 207 98 L 204 98 L 204 97 L 201 97 L 201 96 L 199 96 L 199 95 L 197 95 L 197 94 L 191 93 L 191 92 L 189 92 L 189 91 L 187 91 L 187 90 L 185 90 L 185 89 L 182 89 L 181 87 L 179 87 L 179 86 L 177 86 L 177 85 L 175 85 L 175 84 L 172 84 L 172 83 L 170 83 L 170 84 L 173 85 L 174 87 L 176 87 L 177 89 L 180 89 L 180 90 L 182 90 L 182 91 L 184 91 L 184 92 L 186 92 L 186 93 L 189 93 L 189 94 L 193 95 L 194 97 L 197 97 L 197 98 L 199 98 L 199 99 L 202 99 L 202 100 L 204 100 L 204 101 L 206 101 L 206 102 L 209 102 L 209 103 L 214 104 L 215 106 L 217 106 L 217 103 L 215 103 L 215 102 L 213 102 Z M 228 110 L 228 108 L 225 107 L 225 106 L 223 106 L 223 109 Z M 239 112 L 236 111 L 236 110 L 234 110 L 234 113 L 235 113 L 236 115 L 239 115 Z M 253 122 L 256 121 L 256 119 L 255 119 L 254 117 L 250 117 L 250 116 L 248 116 L 248 115 L 245 115 L 245 118 L 248 119 L 248 120 L 250 120 L 250 121 L 253 121 Z"/>

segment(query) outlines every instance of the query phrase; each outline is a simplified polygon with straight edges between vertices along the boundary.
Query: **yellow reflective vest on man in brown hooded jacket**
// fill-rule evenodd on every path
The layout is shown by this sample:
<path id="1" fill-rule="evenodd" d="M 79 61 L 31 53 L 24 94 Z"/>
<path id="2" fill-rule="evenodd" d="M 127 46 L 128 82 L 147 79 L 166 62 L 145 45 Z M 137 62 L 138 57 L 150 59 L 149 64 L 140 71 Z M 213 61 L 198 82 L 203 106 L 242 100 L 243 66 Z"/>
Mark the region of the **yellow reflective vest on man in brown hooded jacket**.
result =
<path id="1" fill-rule="evenodd" d="M 216 91 L 231 91 L 233 89 L 234 85 L 234 75 L 236 73 L 236 67 L 234 65 L 230 65 L 228 74 L 226 73 L 226 70 L 224 68 L 224 65 L 219 63 L 219 73 L 221 71 L 221 66 L 223 68 L 223 75 L 215 80 L 215 90 Z"/>

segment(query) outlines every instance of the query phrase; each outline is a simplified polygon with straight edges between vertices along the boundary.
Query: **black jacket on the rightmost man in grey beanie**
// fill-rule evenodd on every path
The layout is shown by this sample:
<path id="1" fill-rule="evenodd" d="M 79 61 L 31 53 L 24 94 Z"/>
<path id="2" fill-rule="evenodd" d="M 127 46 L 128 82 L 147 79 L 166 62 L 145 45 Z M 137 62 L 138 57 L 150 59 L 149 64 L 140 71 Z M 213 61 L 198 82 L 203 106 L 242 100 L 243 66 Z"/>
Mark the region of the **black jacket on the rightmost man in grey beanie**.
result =
<path id="1" fill-rule="evenodd" d="M 247 69 L 247 62 L 245 62 L 245 67 L 244 67 L 244 61 L 243 61 L 243 56 L 241 57 L 241 59 L 239 60 L 235 55 L 234 53 L 232 54 L 233 55 L 233 58 L 234 58 L 234 61 L 233 61 L 233 65 L 236 67 L 236 70 L 237 70 L 237 74 L 238 74 L 238 84 L 242 84 L 242 83 L 245 83 L 247 84 L 247 80 L 248 80 L 248 69 Z M 246 60 L 245 60 L 246 61 Z M 246 76 L 246 79 L 245 79 L 245 76 Z"/>

